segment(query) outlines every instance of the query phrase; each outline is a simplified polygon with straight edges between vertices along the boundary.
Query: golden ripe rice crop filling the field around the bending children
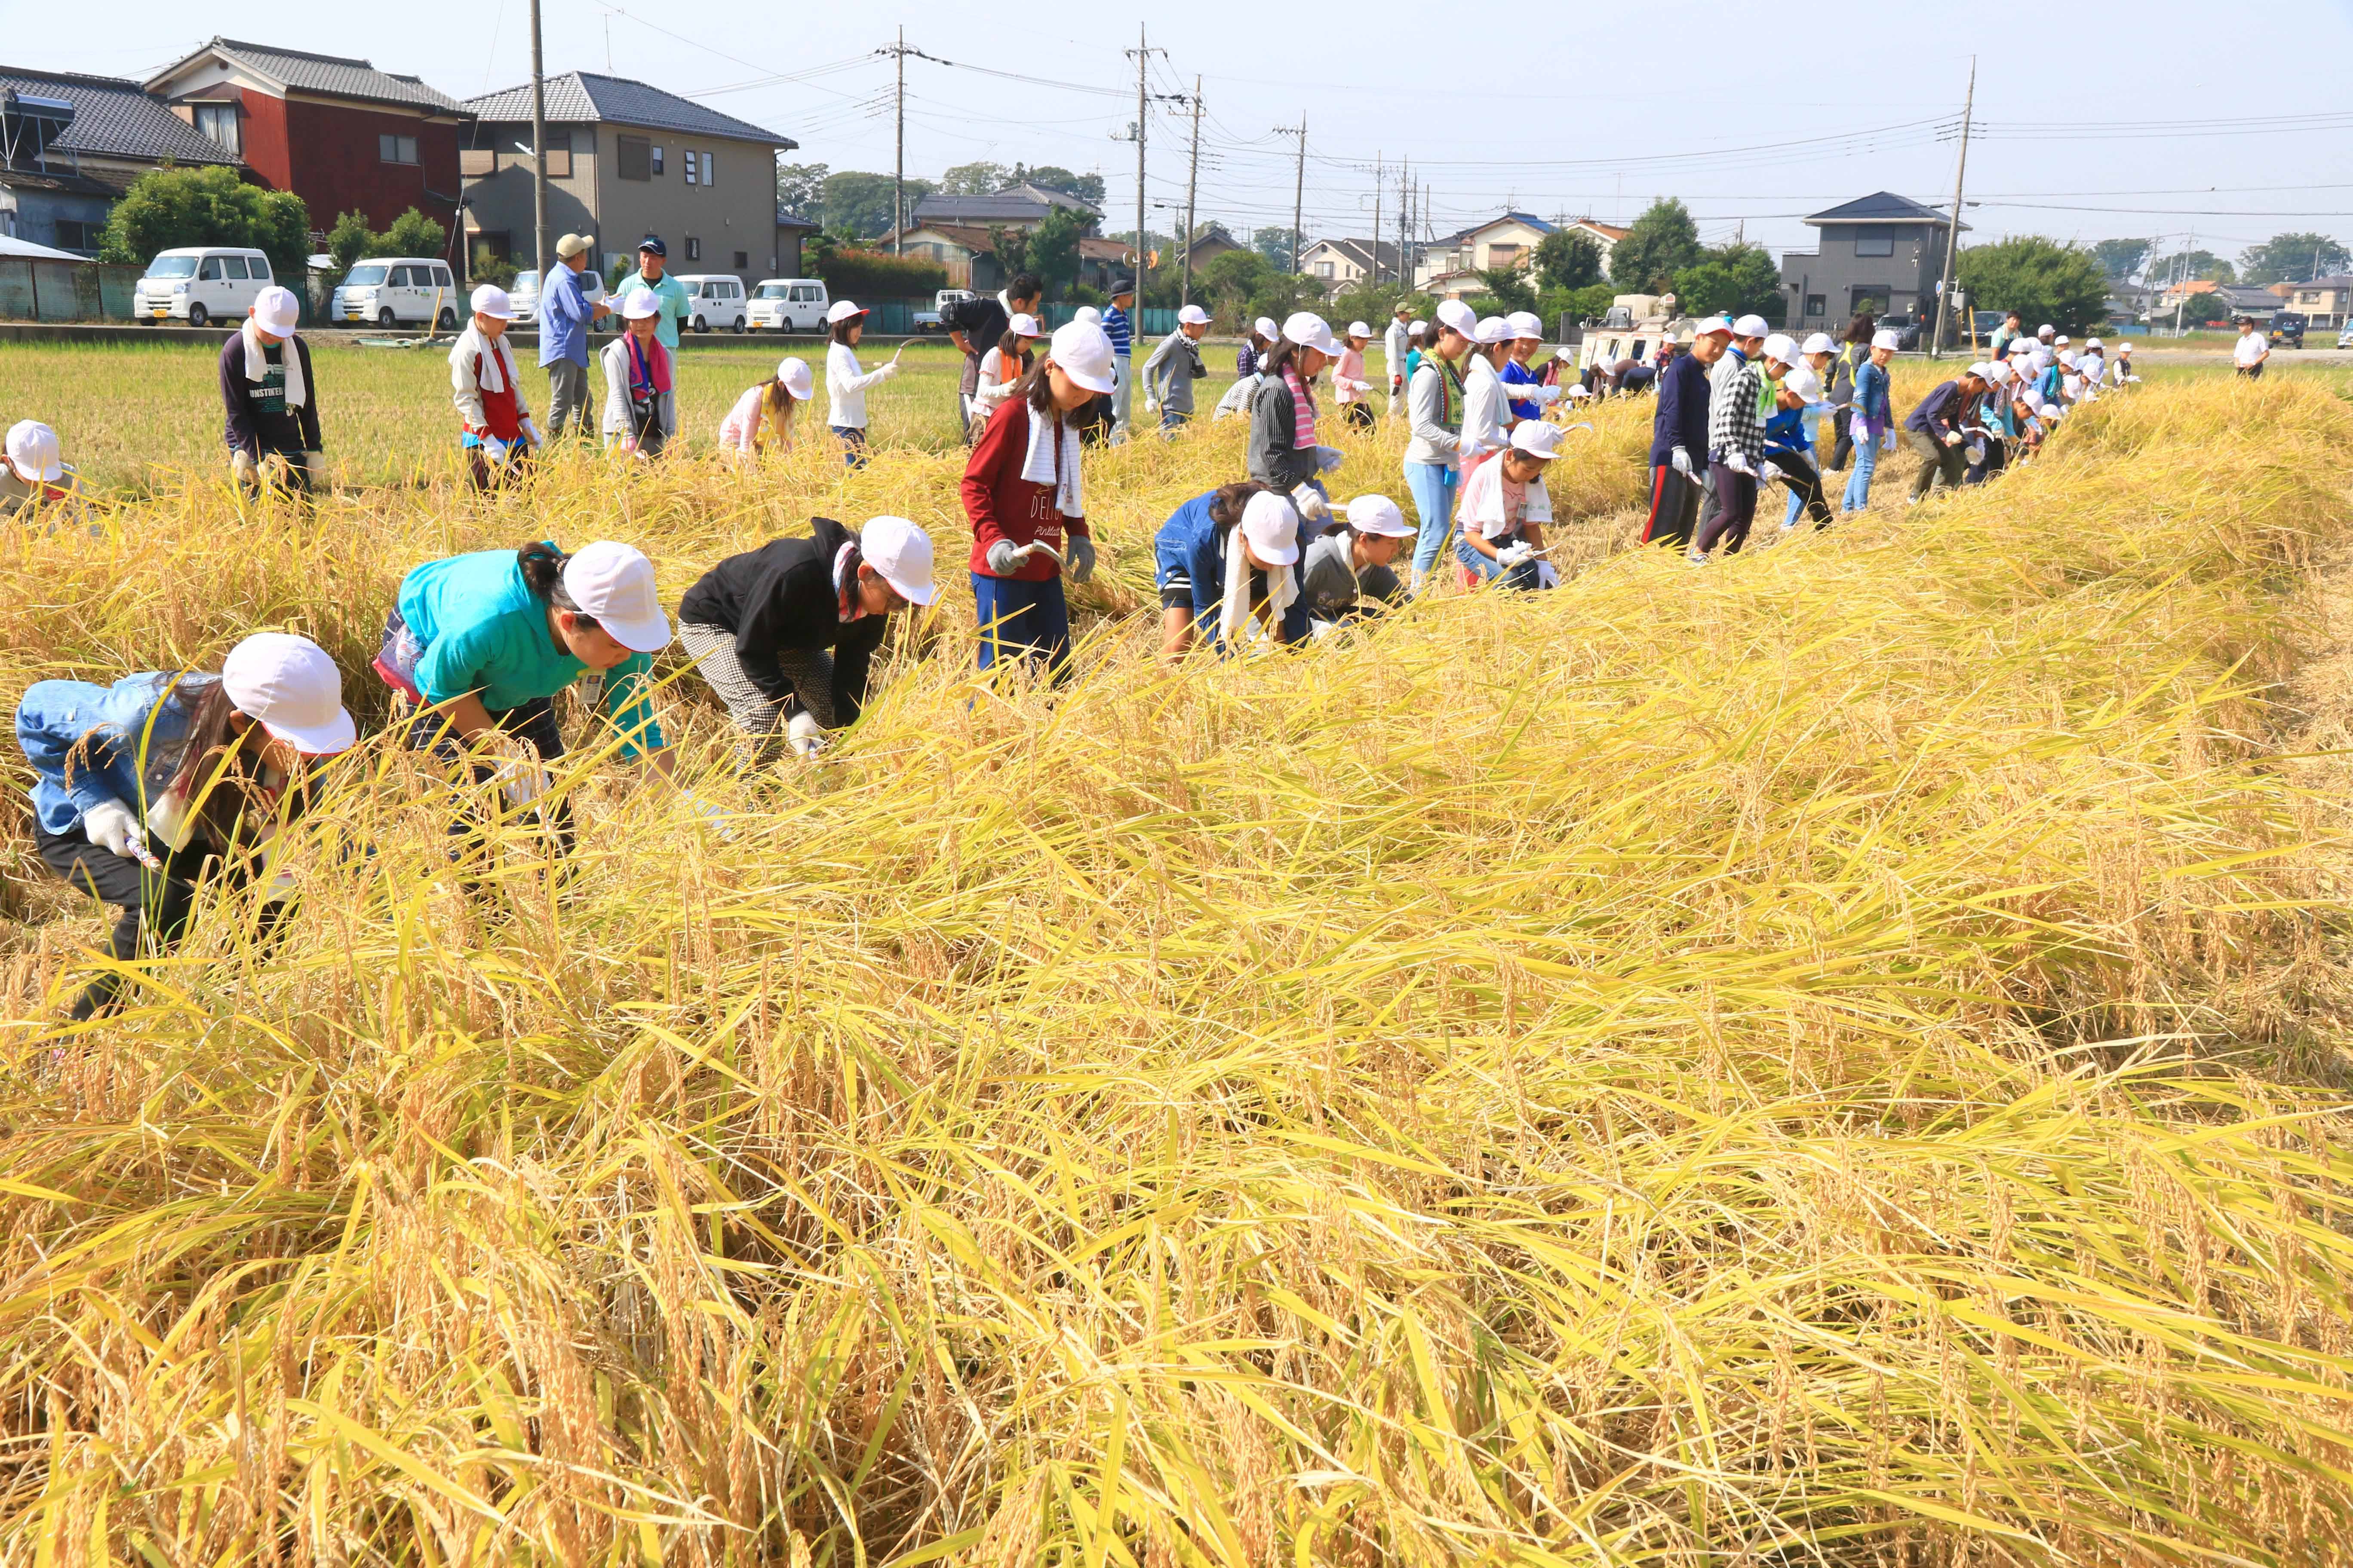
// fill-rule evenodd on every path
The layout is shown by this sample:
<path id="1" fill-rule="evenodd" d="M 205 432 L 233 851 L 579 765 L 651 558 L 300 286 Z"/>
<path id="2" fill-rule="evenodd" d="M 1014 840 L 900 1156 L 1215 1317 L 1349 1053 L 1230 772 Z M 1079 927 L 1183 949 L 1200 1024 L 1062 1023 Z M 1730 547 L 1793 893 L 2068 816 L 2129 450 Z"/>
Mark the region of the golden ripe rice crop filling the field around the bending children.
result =
<path id="1" fill-rule="evenodd" d="M 565 889 L 435 886 L 362 759 L 322 827 L 376 853 L 322 832 L 275 954 L 221 917 L 85 1053 L 19 1034 L 7 1554 L 2322 1561 L 2344 776 L 2271 693 L 2348 440 L 2148 388 L 1708 574 L 1179 675 L 1118 623 L 1054 701 L 955 644 L 711 783 L 732 842 L 607 778 Z M 739 494 L 158 501 L 202 592 L 16 548 L 5 635 L 228 602 L 358 668 L 400 562 L 708 559 Z"/>

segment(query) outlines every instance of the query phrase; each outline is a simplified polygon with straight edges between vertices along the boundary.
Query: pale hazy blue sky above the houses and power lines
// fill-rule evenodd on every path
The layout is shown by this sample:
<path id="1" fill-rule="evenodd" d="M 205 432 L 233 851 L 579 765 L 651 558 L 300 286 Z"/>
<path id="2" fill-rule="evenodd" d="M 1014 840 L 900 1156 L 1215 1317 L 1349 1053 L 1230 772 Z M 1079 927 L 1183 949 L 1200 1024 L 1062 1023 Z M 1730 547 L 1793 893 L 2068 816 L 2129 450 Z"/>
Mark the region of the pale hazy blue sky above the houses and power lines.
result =
<path id="1" fill-rule="evenodd" d="M 113 0 L 104 33 L 73 7 L 12 0 L 0 63 L 144 75 L 214 33 L 367 56 L 468 99 L 529 80 L 529 0 Z M 2353 237 L 2353 110 L 2341 63 L 2353 0 L 2268 0 L 2264 42 L 2226 47 L 2209 5 L 2019 0 L 1840 7 L 1664 0 L 1480 7 L 1459 49 L 1426 5 L 1186 0 L 1160 7 L 671 7 L 544 0 L 546 68 L 612 71 L 781 132 L 788 158 L 892 167 L 892 61 L 906 26 L 906 172 L 993 160 L 1099 172 L 1106 228 L 1134 226 L 1139 26 L 1148 228 L 1184 212 L 1200 82 L 1202 221 L 1289 226 L 1306 125 L 1304 228 L 1365 235 L 1381 172 L 1395 235 L 1400 160 L 1428 188 L 1421 237 L 1508 207 L 1628 219 L 1682 197 L 1704 240 L 1812 247 L 1802 216 L 1897 190 L 1953 200 L 1977 52 L 1969 242 L 2040 233 L 2160 237 L 2235 256 L 2282 230 Z M 1511 33 L 1518 16 L 1539 24 Z M 1769 16 L 1772 26 L 1760 26 Z M 144 40 L 122 45 L 118 40 Z M 1932 45 L 1934 40 L 1934 45 Z M 1727 59 L 1751 61 L 1732 71 Z M 1504 61 L 1504 63 L 1497 63 Z"/>

